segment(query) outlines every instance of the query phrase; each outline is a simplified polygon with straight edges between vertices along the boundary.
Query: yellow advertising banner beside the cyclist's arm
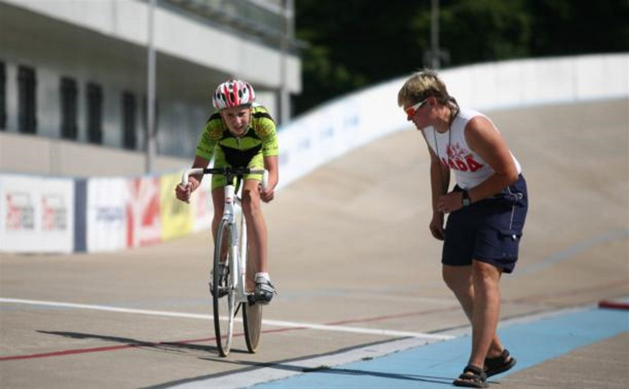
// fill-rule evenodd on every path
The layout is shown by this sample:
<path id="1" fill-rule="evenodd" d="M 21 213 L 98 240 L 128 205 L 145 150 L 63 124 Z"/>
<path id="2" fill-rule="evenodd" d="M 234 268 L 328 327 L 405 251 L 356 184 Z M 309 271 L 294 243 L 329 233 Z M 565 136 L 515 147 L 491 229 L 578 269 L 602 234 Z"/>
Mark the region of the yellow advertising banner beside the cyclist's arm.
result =
<path id="1" fill-rule="evenodd" d="M 179 183 L 181 183 L 181 174 L 165 174 L 160 179 L 163 240 L 187 235 L 192 231 L 192 207 L 175 198 L 175 186 Z"/>

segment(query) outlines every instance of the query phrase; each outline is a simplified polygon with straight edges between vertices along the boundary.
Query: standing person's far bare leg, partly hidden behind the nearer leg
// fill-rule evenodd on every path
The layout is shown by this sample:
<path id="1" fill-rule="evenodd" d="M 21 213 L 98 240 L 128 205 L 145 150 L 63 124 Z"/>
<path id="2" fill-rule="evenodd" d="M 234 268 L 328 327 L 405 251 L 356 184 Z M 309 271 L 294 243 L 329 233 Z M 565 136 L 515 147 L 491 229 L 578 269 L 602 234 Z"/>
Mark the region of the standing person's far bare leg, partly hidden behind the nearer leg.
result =
<path id="1" fill-rule="evenodd" d="M 448 266 L 443 265 L 443 280 L 454 295 L 459 300 L 461 307 L 472 323 L 474 315 L 474 285 L 472 285 L 472 266 Z M 494 331 L 491 346 L 487 352 L 487 356 L 492 358 L 500 355 L 503 351 L 503 345 L 500 342 L 498 334 Z"/>

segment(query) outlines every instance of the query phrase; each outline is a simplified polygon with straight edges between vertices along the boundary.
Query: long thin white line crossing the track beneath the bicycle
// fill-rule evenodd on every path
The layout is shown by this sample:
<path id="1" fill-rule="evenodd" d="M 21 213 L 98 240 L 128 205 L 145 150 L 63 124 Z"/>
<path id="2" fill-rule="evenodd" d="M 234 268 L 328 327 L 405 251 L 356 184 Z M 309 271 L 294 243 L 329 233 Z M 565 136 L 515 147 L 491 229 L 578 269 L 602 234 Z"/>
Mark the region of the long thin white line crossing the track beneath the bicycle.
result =
<path id="1" fill-rule="evenodd" d="M 0 303 L 44 305 L 48 307 L 63 307 L 63 308 L 74 308 L 74 309 L 101 310 L 101 311 L 119 312 L 119 313 L 135 313 L 139 315 L 184 317 L 186 319 L 213 320 L 212 315 L 205 315 L 201 313 L 184 313 L 184 312 L 156 311 L 156 310 L 145 310 L 145 309 L 135 309 L 135 308 L 121 308 L 121 307 L 111 307 L 109 305 L 75 304 L 75 303 L 49 302 L 49 301 L 42 301 L 42 300 L 23 300 L 21 298 L 2 298 L 2 297 L 0 297 Z M 237 318 L 236 320 L 242 321 L 242 319 L 240 318 Z M 298 328 L 325 330 L 325 331 L 353 332 L 355 334 L 373 334 L 373 335 L 383 335 L 383 336 L 392 336 L 392 337 L 416 337 L 416 338 L 421 338 L 421 339 L 435 339 L 435 340 L 440 340 L 440 341 L 445 341 L 447 339 L 453 338 L 453 336 L 451 335 L 424 334 L 422 332 L 407 332 L 407 331 L 385 330 L 385 329 L 377 329 L 377 328 L 347 327 L 347 326 L 342 326 L 342 325 L 286 322 L 282 320 L 262 320 L 262 325 L 270 325 L 274 327 L 298 327 Z"/>

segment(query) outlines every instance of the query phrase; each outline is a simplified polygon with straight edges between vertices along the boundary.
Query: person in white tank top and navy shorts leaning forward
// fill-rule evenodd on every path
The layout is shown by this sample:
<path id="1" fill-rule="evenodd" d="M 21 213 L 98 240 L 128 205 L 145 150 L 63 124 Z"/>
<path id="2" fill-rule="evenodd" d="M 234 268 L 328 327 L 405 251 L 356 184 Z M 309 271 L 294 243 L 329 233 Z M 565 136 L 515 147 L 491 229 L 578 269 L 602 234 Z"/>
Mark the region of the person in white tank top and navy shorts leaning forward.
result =
<path id="1" fill-rule="evenodd" d="M 528 210 L 526 182 L 491 120 L 459 108 L 435 72 L 413 74 L 400 89 L 398 104 L 428 144 L 430 232 L 444 240 L 443 279 L 472 323 L 469 363 L 454 385 L 485 387 L 488 376 L 516 363 L 496 327 L 500 277 L 511 273 L 518 259 Z M 450 169 L 457 184 L 447 193 Z M 449 216 L 444 230 L 445 213 Z"/>

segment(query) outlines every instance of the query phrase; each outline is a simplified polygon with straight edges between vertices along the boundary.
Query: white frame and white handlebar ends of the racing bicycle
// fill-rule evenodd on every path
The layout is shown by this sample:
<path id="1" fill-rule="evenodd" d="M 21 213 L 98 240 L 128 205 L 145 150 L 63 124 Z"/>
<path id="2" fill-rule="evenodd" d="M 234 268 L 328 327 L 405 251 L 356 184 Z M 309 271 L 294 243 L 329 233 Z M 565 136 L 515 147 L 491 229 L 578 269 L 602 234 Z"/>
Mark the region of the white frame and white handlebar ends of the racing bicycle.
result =
<path id="1" fill-rule="evenodd" d="M 203 167 L 193 168 L 185 171 L 181 176 L 181 184 L 186 186 L 189 176 L 195 174 L 208 174 L 213 173 L 214 169 L 204 169 Z M 266 189 L 269 184 L 269 171 L 266 169 L 250 169 L 249 174 L 262 174 L 262 189 Z M 228 247 L 230 250 L 230 275 L 232 277 L 232 285 L 236 291 L 236 303 L 248 303 L 249 293 L 245 291 L 246 273 L 247 273 L 247 220 L 244 215 L 240 218 L 240 231 L 242 237 L 240 241 L 238 239 L 238 228 L 235 222 L 235 213 L 237 206 L 240 207 L 242 212 L 242 205 L 240 203 L 240 197 L 235 193 L 236 188 L 233 184 L 229 183 L 225 185 L 225 207 L 223 208 L 223 217 L 221 220 L 227 223 L 230 228 L 230 241 Z M 218 242 L 216 243 L 218 244 Z"/>

